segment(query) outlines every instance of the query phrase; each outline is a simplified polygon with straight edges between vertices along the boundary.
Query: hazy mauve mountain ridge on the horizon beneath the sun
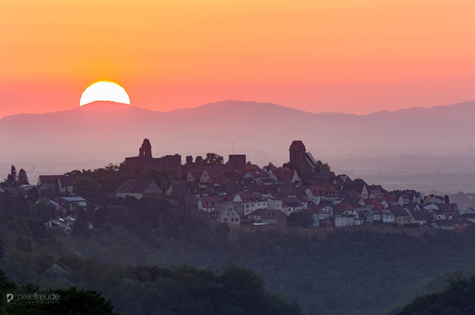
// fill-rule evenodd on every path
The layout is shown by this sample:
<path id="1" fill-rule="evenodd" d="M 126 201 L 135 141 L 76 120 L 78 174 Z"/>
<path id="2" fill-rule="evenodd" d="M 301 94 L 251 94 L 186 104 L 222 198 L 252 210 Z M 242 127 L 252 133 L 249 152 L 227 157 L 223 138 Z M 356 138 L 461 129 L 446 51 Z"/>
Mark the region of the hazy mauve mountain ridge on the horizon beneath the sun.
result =
<path id="1" fill-rule="evenodd" d="M 368 115 L 310 113 L 276 104 L 224 101 L 158 112 L 95 102 L 71 110 L 0 119 L 0 162 L 122 160 L 143 138 L 156 157 L 216 151 L 285 157 L 292 140 L 308 150 L 446 150 L 473 146 L 475 102 Z"/>

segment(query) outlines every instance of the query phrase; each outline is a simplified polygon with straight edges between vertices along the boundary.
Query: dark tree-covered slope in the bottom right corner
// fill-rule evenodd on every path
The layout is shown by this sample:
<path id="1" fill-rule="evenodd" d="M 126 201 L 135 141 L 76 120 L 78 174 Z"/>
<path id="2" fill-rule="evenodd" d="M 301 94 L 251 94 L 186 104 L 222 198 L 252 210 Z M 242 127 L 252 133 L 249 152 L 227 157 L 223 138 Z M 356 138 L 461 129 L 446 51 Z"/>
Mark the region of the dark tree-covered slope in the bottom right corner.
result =
<path id="1" fill-rule="evenodd" d="M 475 314 L 475 278 L 457 278 L 439 293 L 414 299 L 399 315 Z"/>

